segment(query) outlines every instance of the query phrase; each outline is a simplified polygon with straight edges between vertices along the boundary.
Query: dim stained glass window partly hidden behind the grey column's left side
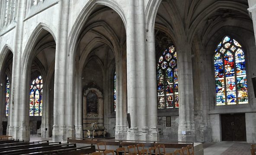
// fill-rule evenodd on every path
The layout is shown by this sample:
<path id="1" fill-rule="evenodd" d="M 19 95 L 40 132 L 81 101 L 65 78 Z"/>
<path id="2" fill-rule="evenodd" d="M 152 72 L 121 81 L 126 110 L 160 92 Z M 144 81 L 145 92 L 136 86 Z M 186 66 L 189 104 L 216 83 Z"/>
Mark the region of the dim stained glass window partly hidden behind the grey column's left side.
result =
<path id="1" fill-rule="evenodd" d="M 177 73 L 177 53 L 170 46 L 157 63 L 157 109 L 179 108 Z"/>

